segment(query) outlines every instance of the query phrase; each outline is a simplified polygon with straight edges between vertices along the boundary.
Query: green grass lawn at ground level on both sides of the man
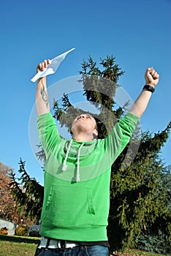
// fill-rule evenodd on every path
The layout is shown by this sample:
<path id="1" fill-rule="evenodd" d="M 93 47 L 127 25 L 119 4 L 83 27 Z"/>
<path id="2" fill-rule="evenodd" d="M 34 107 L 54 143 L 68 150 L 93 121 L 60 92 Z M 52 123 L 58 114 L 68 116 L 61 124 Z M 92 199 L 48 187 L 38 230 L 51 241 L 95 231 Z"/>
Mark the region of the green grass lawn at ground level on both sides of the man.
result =
<path id="1" fill-rule="evenodd" d="M 1 256 L 34 256 L 35 250 L 37 248 L 37 244 L 39 242 L 39 238 L 33 238 L 28 236 L 3 236 L 0 235 L 0 255 Z M 166 256 L 159 255 L 152 252 L 143 252 L 135 249 L 127 249 L 125 252 L 121 254 L 118 252 L 118 255 L 142 255 L 142 256 Z"/>

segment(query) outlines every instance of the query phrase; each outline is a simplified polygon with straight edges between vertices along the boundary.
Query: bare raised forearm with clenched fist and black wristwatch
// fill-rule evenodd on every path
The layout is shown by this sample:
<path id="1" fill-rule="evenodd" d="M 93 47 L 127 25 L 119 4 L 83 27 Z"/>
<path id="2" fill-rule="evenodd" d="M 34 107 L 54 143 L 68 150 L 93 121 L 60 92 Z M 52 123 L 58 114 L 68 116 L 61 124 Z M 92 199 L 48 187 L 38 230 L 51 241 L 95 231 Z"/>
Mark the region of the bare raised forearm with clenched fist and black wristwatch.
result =
<path id="1" fill-rule="evenodd" d="M 155 89 L 157 83 L 159 82 L 159 74 L 153 69 L 153 67 L 148 67 L 145 72 L 145 82 L 146 86 L 142 89 L 140 96 L 134 102 L 134 105 L 129 110 L 129 113 L 133 113 L 136 116 L 141 117 L 145 109 L 148 106 L 148 102 L 151 99 L 151 94 L 153 89 Z M 150 86 L 152 86 L 150 88 Z"/>

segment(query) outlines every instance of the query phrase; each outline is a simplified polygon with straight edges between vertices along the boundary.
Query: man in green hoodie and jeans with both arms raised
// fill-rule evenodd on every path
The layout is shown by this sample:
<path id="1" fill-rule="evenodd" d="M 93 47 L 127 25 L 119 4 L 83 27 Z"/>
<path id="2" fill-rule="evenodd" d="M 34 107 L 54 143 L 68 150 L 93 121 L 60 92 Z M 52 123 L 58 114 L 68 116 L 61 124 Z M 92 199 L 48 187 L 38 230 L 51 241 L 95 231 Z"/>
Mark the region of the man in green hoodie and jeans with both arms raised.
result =
<path id="1" fill-rule="evenodd" d="M 37 67 L 45 69 L 45 60 Z M 110 207 L 111 165 L 129 143 L 144 113 L 159 75 L 145 72 L 146 85 L 129 113 L 113 127 L 107 138 L 96 139 L 96 121 L 89 114 L 72 123 L 72 139 L 61 138 L 50 114 L 46 78 L 37 82 L 38 131 L 46 155 L 42 236 L 35 256 L 109 255 L 107 217 Z"/>

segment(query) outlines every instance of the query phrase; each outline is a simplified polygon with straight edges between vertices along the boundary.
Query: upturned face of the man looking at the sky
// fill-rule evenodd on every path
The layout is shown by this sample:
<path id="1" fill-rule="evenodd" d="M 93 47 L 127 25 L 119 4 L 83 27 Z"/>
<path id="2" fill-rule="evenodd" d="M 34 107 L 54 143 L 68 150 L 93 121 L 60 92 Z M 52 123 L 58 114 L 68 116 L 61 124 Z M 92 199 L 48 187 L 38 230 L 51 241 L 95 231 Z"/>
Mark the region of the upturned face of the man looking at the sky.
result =
<path id="1" fill-rule="evenodd" d="M 97 135 L 96 120 L 89 114 L 77 116 L 72 123 L 72 134 L 75 132 L 92 132 Z"/>

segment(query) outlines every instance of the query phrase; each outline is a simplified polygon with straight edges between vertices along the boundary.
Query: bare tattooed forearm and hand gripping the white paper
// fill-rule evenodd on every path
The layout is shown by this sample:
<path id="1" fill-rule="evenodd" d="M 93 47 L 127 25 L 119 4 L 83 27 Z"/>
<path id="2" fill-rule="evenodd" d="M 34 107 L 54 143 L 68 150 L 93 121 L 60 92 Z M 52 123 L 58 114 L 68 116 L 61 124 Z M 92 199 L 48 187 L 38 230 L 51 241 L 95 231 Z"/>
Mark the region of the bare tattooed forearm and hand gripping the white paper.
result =
<path id="1" fill-rule="evenodd" d="M 37 66 L 37 72 L 39 72 L 40 70 L 44 70 L 48 64 L 50 64 L 50 60 L 45 60 L 39 63 Z M 39 78 L 39 80 L 37 81 L 36 105 L 38 116 L 50 112 L 46 77 Z"/>

